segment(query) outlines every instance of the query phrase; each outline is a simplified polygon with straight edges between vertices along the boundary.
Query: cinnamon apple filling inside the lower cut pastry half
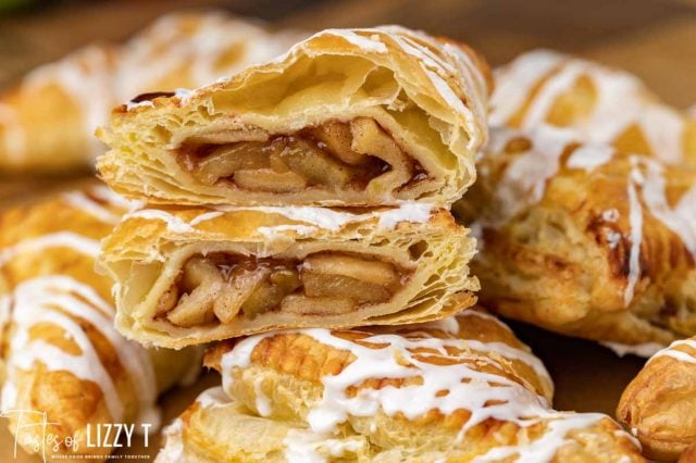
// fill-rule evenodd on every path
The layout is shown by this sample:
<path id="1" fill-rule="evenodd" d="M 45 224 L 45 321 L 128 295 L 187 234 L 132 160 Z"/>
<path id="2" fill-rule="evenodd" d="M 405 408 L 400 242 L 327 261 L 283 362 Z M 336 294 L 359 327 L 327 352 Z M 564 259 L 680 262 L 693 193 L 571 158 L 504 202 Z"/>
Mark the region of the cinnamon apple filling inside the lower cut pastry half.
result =
<path id="1" fill-rule="evenodd" d="M 378 260 L 320 252 L 303 260 L 196 255 L 160 298 L 157 316 L 190 327 L 270 311 L 339 315 L 388 301 L 408 273 Z"/>

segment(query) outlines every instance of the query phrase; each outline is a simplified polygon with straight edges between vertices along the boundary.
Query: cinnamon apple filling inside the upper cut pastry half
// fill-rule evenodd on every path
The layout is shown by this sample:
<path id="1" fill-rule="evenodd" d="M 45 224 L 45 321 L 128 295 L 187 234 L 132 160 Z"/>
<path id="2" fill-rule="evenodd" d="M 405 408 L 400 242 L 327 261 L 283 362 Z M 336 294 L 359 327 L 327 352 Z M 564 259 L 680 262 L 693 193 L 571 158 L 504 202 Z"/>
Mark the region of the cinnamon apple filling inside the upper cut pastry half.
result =
<path id="1" fill-rule="evenodd" d="M 288 193 L 308 187 L 385 192 L 427 176 L 374 120 L 330 121 L 268 137 L 217 132 L 189 138 L 181 163 L 202 184 Z"/>

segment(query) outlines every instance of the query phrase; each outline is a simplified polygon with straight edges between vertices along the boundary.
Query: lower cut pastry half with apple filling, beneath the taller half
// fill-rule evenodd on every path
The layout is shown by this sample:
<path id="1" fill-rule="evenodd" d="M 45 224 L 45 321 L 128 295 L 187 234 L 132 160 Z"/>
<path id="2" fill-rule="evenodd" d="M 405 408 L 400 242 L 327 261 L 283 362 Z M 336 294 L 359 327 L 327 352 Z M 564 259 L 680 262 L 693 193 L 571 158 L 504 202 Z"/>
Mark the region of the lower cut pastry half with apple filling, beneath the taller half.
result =
<path id="1" fill-rule="evenodd" d="M 471 305 L 474 240 L 446 210 L 162 208 L 102 242 L 116 325 L 183 346 L 307 326 L 391 325 Z"/>

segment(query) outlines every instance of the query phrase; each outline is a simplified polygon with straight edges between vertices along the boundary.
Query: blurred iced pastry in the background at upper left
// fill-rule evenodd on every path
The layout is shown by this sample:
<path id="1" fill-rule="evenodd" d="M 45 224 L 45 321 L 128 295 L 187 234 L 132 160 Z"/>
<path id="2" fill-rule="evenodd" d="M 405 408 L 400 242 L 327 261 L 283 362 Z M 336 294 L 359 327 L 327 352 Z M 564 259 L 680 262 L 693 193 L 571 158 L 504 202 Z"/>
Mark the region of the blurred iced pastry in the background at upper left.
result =
<path id="1" fill-rule="evenodd" d="M 195 88 L 285 52 L 303 37 L 222 12 L 162 16 L 125 45 L 95 43 L 40 66 L 0 96 L 0 170 L 92 164 L 110 110 L 138 93 Z"/>

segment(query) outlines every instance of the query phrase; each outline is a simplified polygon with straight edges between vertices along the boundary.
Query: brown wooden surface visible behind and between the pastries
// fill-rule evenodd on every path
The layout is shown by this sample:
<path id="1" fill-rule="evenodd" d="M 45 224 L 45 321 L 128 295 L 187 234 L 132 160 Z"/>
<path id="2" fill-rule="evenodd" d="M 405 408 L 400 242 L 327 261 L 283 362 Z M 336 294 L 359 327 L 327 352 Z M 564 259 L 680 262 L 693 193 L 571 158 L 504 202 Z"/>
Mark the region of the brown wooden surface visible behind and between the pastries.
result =
<path id="1" fill-rule="evenodd" d="M 402 24 L 462 39 L 500 64 L 532 48 L 568 51 L 624 67 L 641 76 L 669 103 L 696 103 L 696 0 L 214 0 L 79 3 L 32 15 L 0 17 L 0 87 L 32 66 L 55 59 L 94 39 L 120 40 L 157 15 L 191 5 L 224 7 L 282 27 L 325 27 Z M 5 178 L 0 208 L 30 201 L 78 182 Z M 46 190 L 49 190 L 46 192 Z M 561 410 L 613 413 L 618 398 L 643 360 L 618 359 L 600 346 L 543 333 L 515 324 L 520 337 L 544 360 L 556 381 Z M 165 418 L 175 416 L 202 383 L 165 396 Z M 139 443 L 141 445 L 141 442 Z M 132 449 L 135 453 L 156 453 Z M 0 430 L 0 462 L 12 459 L 12 440 Z M 21 455 L 18 461 L 40 461 Z"/>

